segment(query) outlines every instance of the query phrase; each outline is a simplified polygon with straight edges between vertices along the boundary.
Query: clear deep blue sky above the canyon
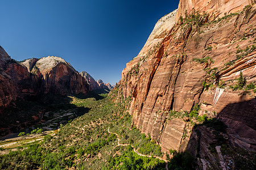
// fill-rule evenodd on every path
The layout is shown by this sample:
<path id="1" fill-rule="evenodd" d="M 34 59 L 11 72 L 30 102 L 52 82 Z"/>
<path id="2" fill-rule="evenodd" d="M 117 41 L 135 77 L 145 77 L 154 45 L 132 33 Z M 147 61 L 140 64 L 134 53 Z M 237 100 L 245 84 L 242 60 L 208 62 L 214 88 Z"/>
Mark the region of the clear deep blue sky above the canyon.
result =
<path id="1" fill-rule="evenodd" d="M 58 56 L 115 84 L 179 1 L 1 1 L 0 45 L 18 61 Z"/>

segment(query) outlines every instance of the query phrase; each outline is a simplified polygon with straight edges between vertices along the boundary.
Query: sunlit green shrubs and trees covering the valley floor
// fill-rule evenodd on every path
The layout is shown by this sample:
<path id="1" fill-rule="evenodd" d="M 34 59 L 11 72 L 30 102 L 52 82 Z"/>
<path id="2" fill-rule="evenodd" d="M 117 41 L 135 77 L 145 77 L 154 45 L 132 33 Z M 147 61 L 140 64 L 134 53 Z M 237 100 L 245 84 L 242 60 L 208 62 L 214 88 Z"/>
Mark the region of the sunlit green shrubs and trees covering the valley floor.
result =
<path id="1" fill-rule="evenodd" d="M 71 97 L 73 109 L 89 112 L 61 126 L 54 137 L 46 135 L 43 141 L 1 155 L 0 169 L 164 169 L 166 163 L 154 158 L 163 156 L 161 148 L 131 124 L 127 103 Z M 118 145 L 117 138 L 125 145 Z"/>

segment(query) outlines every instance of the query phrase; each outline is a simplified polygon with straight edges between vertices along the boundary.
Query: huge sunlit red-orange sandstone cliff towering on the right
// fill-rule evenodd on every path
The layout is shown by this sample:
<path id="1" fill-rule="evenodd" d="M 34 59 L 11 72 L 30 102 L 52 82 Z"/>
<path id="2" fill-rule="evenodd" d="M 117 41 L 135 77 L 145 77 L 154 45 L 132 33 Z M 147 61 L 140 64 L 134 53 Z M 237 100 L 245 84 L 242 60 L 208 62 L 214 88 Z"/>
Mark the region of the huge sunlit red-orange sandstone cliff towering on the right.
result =
<path id="1" fill-rule="evenodd" d="M 225 123 L 226 138 L 232 146 L 256 151 L 255 92 L 230 88 L 237 85 L 240 71 L 247 84 L 256 81 L 256 7 L 243 9 L 249 2 L 243 5 L 240 2 L 243 1 L 238 5 L 238 1 L 216 2 L 212 10 L 208 5 L 205 7 L 207 2 L 187 3 L 196 6 L 196 10 L 214 14 L 225 7 L 230 8 L 227 14 L 240 10 L 210 22 L 212 14 L 208 11 L 200 15 L 181 1 L 178 15 L 175 16 L 176 11 L 168 14 L 163 24 L 160 19 L 141 52 L 122 71 L 122 78 L 114 88 L 117 96 L 131 96 L 129 112 L 134 125 L 143 133 L 150 133 L 163 151 L 192 149 L 189 141 L 198 139 L 192 120 L 186 116 L 170 117 L 170 111 L 189 113 L 196 104 L 201 108 L 199 116 L 207 114 Z M 231 3 L 233 6 L 229 6 Z M 174 24 L 185 9 L 191 11 L 190 15 Z M 208 133 L 212 132 L 201 134 Z M 205 145 L 204 153 L 213 138 L 200 138 L 201 146 Z"/>

